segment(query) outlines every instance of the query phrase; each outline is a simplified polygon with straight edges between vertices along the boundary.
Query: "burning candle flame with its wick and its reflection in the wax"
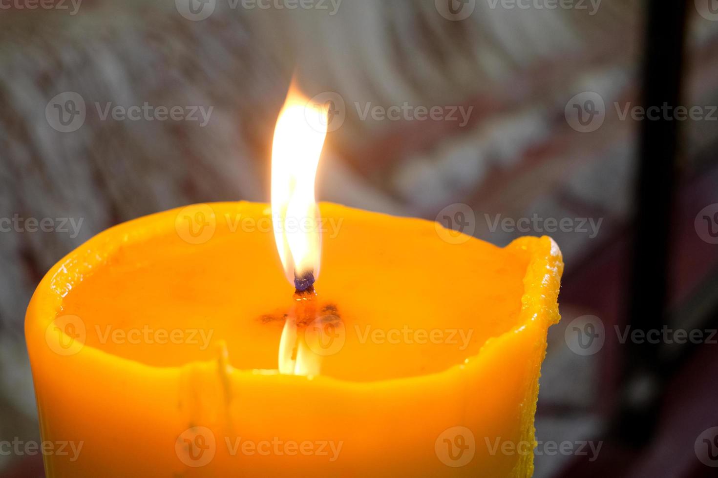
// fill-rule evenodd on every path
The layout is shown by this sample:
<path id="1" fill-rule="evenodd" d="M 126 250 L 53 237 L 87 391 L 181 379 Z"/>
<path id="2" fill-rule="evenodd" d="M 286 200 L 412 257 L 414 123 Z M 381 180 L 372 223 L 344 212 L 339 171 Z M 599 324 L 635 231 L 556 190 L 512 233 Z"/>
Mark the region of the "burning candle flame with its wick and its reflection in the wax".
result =
<path id="1" fill-rule="evenodd" d="M 319 277 L 320 214 L 314 180 L 327 135 L 328 107 L 314 105 L 294 86 L 274 128 L 271 158 L 271 214 L 274 241 L 284 273 L 294 285 L 297 307 L 288 315 L 279 342 L 279 373 L 315 375 L 319 357 L 304 333 L 314 308 L 314 280 Z M 309 305 L 307 305 L 309 303 Z M 300 312 L 301 311 L 301 312 Z M 302 317 L 297 317 L 302 315 Z"/>

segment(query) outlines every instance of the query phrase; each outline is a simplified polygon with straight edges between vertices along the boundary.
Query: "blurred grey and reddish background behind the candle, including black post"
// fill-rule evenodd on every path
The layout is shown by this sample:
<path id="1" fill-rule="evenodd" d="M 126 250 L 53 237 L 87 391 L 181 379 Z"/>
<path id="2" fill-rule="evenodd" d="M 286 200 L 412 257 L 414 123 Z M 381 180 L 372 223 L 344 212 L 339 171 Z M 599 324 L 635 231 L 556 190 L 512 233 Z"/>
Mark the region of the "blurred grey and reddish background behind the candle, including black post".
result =
<path id="1" fill-rule="evenodd" d="M 537 477 L 715 476 L 717 52 L 715 0 L 0 1 L 0 442 L 39 441 L 42 275 L 121 221 L 268 201 L 296 71 L 332 108 L 320 199 L 561 247 Z"/>

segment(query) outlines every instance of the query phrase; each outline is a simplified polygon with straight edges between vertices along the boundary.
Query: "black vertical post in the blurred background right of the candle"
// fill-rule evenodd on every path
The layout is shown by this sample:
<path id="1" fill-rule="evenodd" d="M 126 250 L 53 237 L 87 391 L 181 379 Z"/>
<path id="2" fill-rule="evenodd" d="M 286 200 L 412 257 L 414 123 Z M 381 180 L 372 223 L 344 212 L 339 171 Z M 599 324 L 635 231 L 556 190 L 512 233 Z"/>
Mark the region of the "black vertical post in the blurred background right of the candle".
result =
<path id="1" fill-rule="evenodd" d="M 691 4 L 693 2 L 691 1 Z M 647 24 L 642 103 L 658 118 L 640 123 L 635 237 L 630 264 L 628 324 L 631 330 L 660 330 L 666 312 L 671 211 L 676 188 L 679 121 L 686 34 L 686 0 L 645 0 Z M 663 388 L 661 345 L 626 342 L 620 436 L 641 446 L 658 418 Z"/>

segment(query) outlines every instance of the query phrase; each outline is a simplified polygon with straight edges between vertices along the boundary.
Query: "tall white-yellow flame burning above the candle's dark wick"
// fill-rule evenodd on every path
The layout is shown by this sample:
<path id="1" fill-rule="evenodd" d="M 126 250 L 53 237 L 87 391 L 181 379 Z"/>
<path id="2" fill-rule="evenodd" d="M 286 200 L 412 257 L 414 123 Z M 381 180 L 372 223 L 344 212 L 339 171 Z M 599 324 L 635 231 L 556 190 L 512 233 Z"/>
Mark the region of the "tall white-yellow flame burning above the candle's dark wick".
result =
<path id="1" fill-rule="evenodd" d="M 319 211 L 314 178 L 327 135 L 327 113 L 317 111 L 292 84 L 274 129 L 271 211 L 274 240 L 290 283 L 320 268 Z M 322 115 L 324 120 L 322 120 Z"/>

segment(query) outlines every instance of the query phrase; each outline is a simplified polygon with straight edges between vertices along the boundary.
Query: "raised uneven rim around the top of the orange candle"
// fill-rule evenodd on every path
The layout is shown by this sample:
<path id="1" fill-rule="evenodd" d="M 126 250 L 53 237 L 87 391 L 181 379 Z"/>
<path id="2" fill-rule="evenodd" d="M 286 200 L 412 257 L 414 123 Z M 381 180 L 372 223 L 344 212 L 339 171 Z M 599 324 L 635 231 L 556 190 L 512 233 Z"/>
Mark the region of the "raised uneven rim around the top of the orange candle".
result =
<path id="1" fill-rule="evenodd" d="M 208 206 L 217 206 L 218 209 L 225 209 L 228 207 L 241 207 L 247 204 L 253 206 L 266 206 L 269 211 L 269 204 L 253 203 L 249 201 L 237 201 L 237 202 L 215 202 L 205 203 Z M 340 204 L 330 203 L 322 201 L 321 206 L 342 206 Z M 201 206 L 194 205 L 194 206 Z M 185 206 L 187 207 L 187 206 Z M 342 206 L 348 209 L 348 206 Z M 174 208 L 167 211 L 160 211 L 147 216 L 141 216 L 137 219 L 117 224 L 111 228 L 102 231 L 101 233 L 88 239 L 88 241 L 81 244 L 79 247 L 73 249 L 70 253 L 65 255 L 60 261 L 53 265 L 50 270 L 45 274 L 42 280 L 39 282 L 37 289 L 32 295 L 30 300 L 27 314 L 25 317 L 25 334 L 27 340 L 28 350 L 31 355 L 32 363 L 32 352 L 34 344 L 31 338 L 37 337 L 38 335 L 44 335 L 47 326 L 57 318 L 57 315 L 62 310 L 62 301 L 65 295 L 72 290 L 73 285 L 78 281 L 81 281 L 85 277 L 85 272 L 101 266 L 115 253 L 122 244 L 134 243 L 136 241 L 151 239 L 151 237 L 159 234 L 167 234 L 168 231 L 174 229 L 174 215 L 167 214 L 168 212 L 181 211 L 183 208 Z M 214 211 L 214 209 L 213 209 Z M 373 213 L 381 216 L 386 216 L 393 219 L 411 219 L 413 221 L 424 221 L 432 223 L 432 221 L 426 221 L 425 219 L 406 218 L 403 216 L 393 216 L 391 214 Z M 157 219 L 162 219 L 158 221 Z M 433 223 L 432 223 L 433 226 Z M 116 238 L 121 237 L 118 241 Z M 480 239 L 471 237 L 470 240 L 480 241 Z M 500 248 L 501 249 L 501 248 Z M 485 349 L 492 348 L 497 345 L 500 340 L 503 340 L 510 335 L 516 333 L 522 333 L 531 327 L 542 327 L 548 329 L 552 324 L 559 321 L 559 311 L 557 297 L 559 287 L 557 282 L 560 280 L 561 274 L 563 273 L 563 259 L 561 251 L 549 236 L 535 237 L 535 236 L 523 236 L 515 239 L 513 242 L 508 244 L 503 249 L 515 250 L 523 254 L 528 254 L 528 264 L 526 266 L 526 274 L 523 277 L 523 295 L 521 297 L 521 312 L 520 319 L 517 325 L 500 335 L 487 338 L 485 343 L 482 344 L 480 350 L 470 355 L 465 359 L 465 363 L 457 363 L 449 366 L 442 371 L 434 373 L 426 373 L 418 376 L 405 376 L 396 378 L 385 378 L 376 381 L 350 381 L 342 378 L 335 378 L 332 376 L 309 376 L 302 377 L 296 376 L 298 380 L 314 380 L 322 381 L 323 383 L 351 383 L 361 386 L 376 386 L 378 383 L 393 382 L 393 381 L 411 381 L 421 380 L 429 376 L 441 375 L 443 373 L 449 373 L 452 370 L 460 370 L 465 364 L 470 363 L 484 353 Z M 59 287 L 60 285 L 69 287 Z M 539 313 L 543 312 L 543 313 Z M 536 317 L 546 317 L 541 323 L 536 321 Z M 49 318 L 48 318 L 49 317 Z M 44 340 L 42 340 L 44 343 Z M 134 360 L 133 358 L 126 358 L 119 355 L 108 353 L 105 350 L 95 348 L 92 345 L 84 345 L 83 350 L 78 353 L 85 353 L 89 355 L 97 355 L 98 360 L 119 360 L 118 363 L 131 363 L 134 365 L 140 365 L 142 367 L 149 367 L 151 369 L 174 369 L 181 370 L 182 368 L 192 366 L 193 364 L 201 363 L 215 363 L 215 360 L 209 362 L 203 360 L 190 360 L 182 365 L 172 366 L 158 366 L 151 365 L 149 363 L 141 362 L 140 360 Z M 266 373 L 263 369 L 238 369 L 231 368 L 232 373 L 238 373 L 242 376 L 274 376 L 274 374 Z M 280 376 L 279 374 L 277 376 Z M 282 376 L 286 377 L 286 376 Z M 281 379 L 284 380 L 284 379 Z"/>

